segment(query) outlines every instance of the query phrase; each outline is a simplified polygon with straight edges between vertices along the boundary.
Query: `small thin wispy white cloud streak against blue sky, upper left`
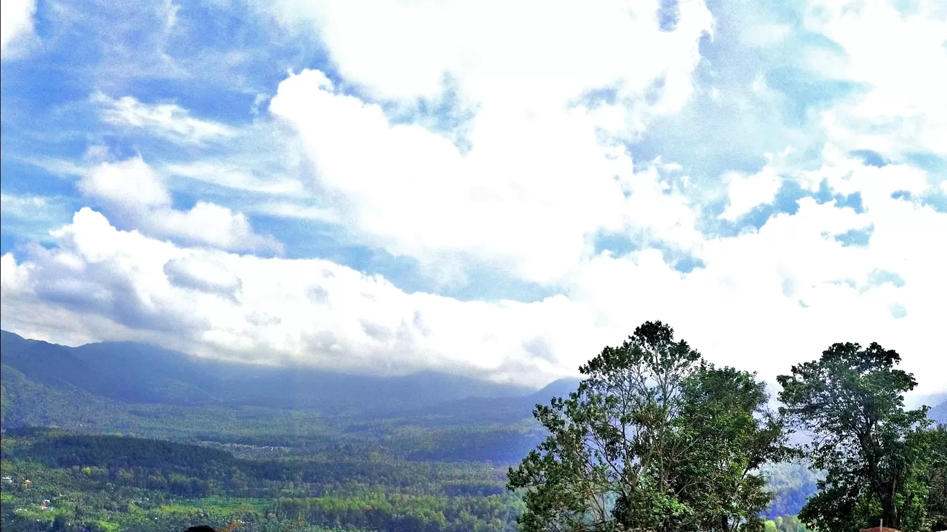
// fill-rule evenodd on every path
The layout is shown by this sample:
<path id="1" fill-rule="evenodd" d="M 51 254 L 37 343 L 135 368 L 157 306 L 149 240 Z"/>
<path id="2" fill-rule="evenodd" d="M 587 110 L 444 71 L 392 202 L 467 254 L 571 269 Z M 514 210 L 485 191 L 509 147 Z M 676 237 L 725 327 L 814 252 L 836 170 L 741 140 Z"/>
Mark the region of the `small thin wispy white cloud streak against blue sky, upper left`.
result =
<path id="1" fill-rule="evenodd" d="M 105 122 L 141 128 L 158 136 L 187 142 L 204 142 L 236 134 L 233 129 L 223 124 L 195 118 L 187 109 L 173 103 L 147 104 L 129 96 L 113 99 L 102 93 L 95 93 L 91 99 L 100 106 L 102 120 Z"/>

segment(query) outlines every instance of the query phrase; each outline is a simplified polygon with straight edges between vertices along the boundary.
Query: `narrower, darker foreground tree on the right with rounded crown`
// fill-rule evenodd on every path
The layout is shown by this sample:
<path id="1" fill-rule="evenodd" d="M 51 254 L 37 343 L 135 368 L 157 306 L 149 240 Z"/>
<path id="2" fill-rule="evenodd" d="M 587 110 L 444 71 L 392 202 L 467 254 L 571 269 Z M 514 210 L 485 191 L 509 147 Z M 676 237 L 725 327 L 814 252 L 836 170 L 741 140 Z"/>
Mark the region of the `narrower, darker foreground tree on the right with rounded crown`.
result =
<path id="1" fill-rule="evenodd" d="M 834 344 L 813 362 L 781 375 L 780 412 L 813 435 L 804 446 L 813 467 L 826 470 L 819 493 L 800 518 L 824 530 L 923 527 L 926 498 L 926 408 L 904 410 L 917 385 L 895 369 L 901 356 L 878 344 Z M 919 522 L 920 520 L 920 522 Z"/>

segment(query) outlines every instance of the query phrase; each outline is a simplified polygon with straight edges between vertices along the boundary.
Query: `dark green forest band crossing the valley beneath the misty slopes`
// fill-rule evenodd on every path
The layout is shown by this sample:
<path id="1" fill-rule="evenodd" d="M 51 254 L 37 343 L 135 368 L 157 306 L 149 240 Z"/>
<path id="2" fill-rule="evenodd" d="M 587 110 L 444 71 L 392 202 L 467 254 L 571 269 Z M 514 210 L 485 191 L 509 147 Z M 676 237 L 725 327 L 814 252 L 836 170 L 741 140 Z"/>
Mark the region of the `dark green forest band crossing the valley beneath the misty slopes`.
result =
<path id="1" fill-rule="evenodd" d="M 10 430 L 4 440 L 4 460 L 37 461 L 102 487 L 167 490 L 189 497 L 357 494 L 377 488 L 488 496 L 505 490 L 504 471 L 486 463 L 412 462 L 377 452 L 249 460 L 204 446 L 30 428 Z"/>

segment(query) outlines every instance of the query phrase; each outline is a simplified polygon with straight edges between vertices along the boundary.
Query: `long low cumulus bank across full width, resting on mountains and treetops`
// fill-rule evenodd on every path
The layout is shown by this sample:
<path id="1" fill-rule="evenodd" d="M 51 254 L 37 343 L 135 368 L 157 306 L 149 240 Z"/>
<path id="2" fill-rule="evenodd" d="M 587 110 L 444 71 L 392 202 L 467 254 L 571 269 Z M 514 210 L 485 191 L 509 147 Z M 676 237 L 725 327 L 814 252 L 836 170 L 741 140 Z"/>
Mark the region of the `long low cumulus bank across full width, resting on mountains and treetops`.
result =
<path id="1" fill-rule="evenodd" d="M 328 260 L 182 247 L 119 231 L 82 209 L 54 233 L 51 249 L 3 258 L 3 327 L 48 338 L 141 338 L 211 356 L 353 371 L 433 367 L 539 384 L 574 372 L 642 321 L 662 319 L 711 361 L 752 367 L 766 379 L 833 342 L 877 341 L 902 353 L 919 392 L 940 391 L 943 383 L 928 376 L 947 370 L 931 352 L 947 279 L 936 246 L 921 243 L 947 234 L 947 215 L 876 190 L 910 182 L 917 170 L 827 153 L 820 171 L 843 168 L 848 185 L 865 195 L 862 212 L 804 198 L 795 214 L 777 215 L 755 233 L 702 241 L 706 266 L 689 274 L 654 249 L 599 255 L 570 277 L 567 294 L 536 303 L 405 293 Z M 867 245 L 835 239 L 869 224 Z M 63 312 L 77 319 L 63 320 Z M 85 314 L 95 318 L 78 319 Z"/>

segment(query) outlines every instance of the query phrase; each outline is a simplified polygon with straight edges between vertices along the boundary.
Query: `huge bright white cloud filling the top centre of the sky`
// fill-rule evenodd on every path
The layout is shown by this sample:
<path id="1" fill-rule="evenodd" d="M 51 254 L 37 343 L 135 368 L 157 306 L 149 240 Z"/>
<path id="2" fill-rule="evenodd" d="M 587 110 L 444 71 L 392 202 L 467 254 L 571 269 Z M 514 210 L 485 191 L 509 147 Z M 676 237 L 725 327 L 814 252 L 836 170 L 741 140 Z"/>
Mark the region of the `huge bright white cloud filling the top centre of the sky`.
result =
<path id="1" fill-rule="evenodd" d="M 366 244 L 416 257 L 445 282 L 463 282 L 474 260 L 560 283 L 601 232 L 685 249 L 700 239 L 681 191 L 658 183 L 656 170 L 635 173 L 619 140 L 690 98 L 699 43 L 712 30 L 701 0 L 678 3 L 673 31 L 661 30 L 653 0 L 594 9 L 391 0 L 367 11 L 287 0 L 264 9 L 300 38 L 315 27 L 333 70 L 363 94 L 434 99 L 449 79 L 471 110 L 461 151 L 454 135 L 393 124 L 322 72 L 280 83 L 271 113 L 295 126 L 326 203 Z M 614 90 L 615 101 L 581 103 L 596 89 Z"/>

